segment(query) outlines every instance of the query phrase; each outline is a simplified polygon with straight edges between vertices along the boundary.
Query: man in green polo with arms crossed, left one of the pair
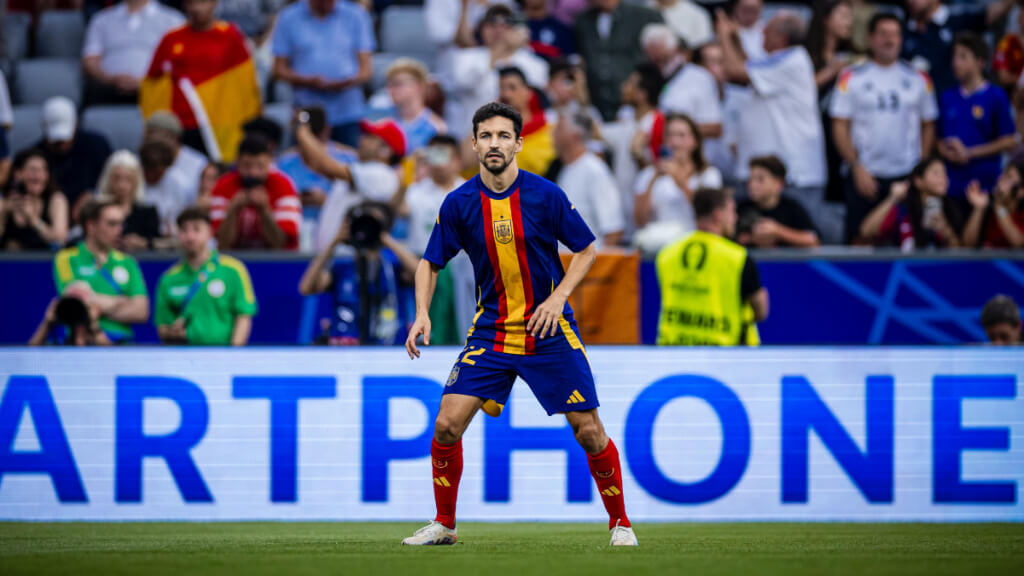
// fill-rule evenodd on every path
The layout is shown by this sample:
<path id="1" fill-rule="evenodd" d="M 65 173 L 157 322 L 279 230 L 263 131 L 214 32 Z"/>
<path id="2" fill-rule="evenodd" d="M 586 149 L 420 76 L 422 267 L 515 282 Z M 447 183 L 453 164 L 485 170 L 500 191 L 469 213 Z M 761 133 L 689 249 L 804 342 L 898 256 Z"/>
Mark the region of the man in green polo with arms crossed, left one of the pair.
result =
<path id="1" fill-rule="evenodd" d="M 134 339 L 132 324 L 150 319 L 150 297 L 135 258 L 117 250 L 124 212 L 113 201 L 90 199 L 82 207 L 85 239 L 57 252 L 53 277 L 58 294 L 95 306 L 99 328 L 114 342 Z"/>

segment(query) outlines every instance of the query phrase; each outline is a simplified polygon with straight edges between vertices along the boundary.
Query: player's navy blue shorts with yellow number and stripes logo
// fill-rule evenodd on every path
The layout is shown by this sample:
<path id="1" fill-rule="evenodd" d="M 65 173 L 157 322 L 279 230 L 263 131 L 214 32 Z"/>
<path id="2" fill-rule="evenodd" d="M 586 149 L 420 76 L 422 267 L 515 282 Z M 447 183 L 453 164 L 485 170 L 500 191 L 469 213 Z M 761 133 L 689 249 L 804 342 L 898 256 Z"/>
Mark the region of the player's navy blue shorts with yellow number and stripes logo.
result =
<path id="1" fill-rule="evenodd" d="M 557 336 L 556 336 L 557 337 Z M 495 352 L 474 345 L 472 340 L 459 355 L 444 384 L 444 394 L 460 394 L 486 401 L 484 412 L 501 413 L 512 394 L 516 376 L 526 381 L 548 415 L 598 407 L 597 388 L 583 345 L 545 346 L 543 354 L 523 356 Z"/>

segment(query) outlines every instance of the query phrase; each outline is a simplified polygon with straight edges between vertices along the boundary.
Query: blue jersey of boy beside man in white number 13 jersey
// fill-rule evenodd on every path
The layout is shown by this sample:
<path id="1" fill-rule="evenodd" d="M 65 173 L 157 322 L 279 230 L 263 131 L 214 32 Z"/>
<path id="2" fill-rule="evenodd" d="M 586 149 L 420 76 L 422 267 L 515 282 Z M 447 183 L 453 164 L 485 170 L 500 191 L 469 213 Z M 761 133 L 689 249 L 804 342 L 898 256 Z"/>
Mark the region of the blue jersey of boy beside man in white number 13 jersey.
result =
<path id="1" fill-rule="evenodd" d="M 1012 135 L 1017 129 L 1007 93 L 987 82 L 970 94 L 958 86 L 949 88 L 939 99 L 939 110 L 941 137 L 959 138 L 968 149 Z M 999 155 L 976 158 L 963 166 L 947 163 L 949 196 L 964 197 L 967 186 L 975 179 L 982 190 L 991 191 L 1001 167 Z"/>

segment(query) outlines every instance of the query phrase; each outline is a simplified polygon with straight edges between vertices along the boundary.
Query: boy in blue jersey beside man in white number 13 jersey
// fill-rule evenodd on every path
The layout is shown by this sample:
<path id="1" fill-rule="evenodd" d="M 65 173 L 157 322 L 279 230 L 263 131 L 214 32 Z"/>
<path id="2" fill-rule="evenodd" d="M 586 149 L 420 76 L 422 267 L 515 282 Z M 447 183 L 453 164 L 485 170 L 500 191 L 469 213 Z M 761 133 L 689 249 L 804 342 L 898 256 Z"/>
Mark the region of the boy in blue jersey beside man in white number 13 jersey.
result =
<path id="1" fill-rule="evenodd" d="M 953 40 L 953 76 L 957 86 L 939 96 L 939 155 L 949 172 L 949 196 L 967 204 L 968 186 L 977 180 L 992 190 L 1002 155 L 1016 146 L 1010 98 L 985 80 L 988 46 L 978 35 L 961 33 Z"/>

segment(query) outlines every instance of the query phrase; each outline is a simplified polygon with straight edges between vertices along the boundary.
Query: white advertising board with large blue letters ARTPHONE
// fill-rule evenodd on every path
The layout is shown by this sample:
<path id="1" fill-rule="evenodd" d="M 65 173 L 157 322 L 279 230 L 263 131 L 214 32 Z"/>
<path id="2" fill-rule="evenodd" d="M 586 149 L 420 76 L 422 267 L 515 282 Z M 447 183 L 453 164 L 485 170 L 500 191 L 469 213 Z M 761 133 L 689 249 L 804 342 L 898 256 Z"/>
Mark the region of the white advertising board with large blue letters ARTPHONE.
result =
<path id="1" fill-rule="evenodd" d="M 0 520 L 426 520 L 457 348 L 0 351 Z M 630 516 L 1024 522 L 1024 355 L 591 347 Z M 600 521 L 517 385 L 464 441 L 459 513 Z"/>

